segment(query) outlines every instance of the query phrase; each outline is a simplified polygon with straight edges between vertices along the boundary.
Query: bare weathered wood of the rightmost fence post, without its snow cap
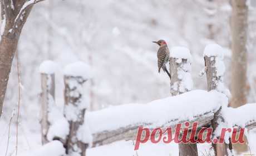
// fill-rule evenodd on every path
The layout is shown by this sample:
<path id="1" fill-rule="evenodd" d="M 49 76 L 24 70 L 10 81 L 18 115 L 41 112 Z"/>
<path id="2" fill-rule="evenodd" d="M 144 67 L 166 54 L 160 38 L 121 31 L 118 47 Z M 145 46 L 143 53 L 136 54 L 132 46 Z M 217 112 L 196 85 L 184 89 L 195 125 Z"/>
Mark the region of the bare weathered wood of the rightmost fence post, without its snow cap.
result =
<path id="1" fill-rule="evenodd" d="M 222 51 L 219 51 L 219 53 L 222 53 Z M 222 83 L 223 76 L 218 75 L 217 68 L 216 68 L 216 58 L 217 56 L 204 56 L 205 60 L 205 66 L 206 66 L 206 78 L 207 78 L 207 88 L 208 91 L 210 90 L 218 90 L 218 84 Z M 223 117 L 221 117 L 220 109 L 215 113 L 213 120 L 211 121 L 211 126 L 213 127 L 213 131 L 218 127 L 219 121 L 225 122 Z M 224 156 L 231 153 L 232 149 L 229 149 L 230 152 L 227 151 L 227 148 L 229 148 L 229 145 L 223 143 L 223 144 L 213 144 L 214 153 L 218 156 Z"/>

